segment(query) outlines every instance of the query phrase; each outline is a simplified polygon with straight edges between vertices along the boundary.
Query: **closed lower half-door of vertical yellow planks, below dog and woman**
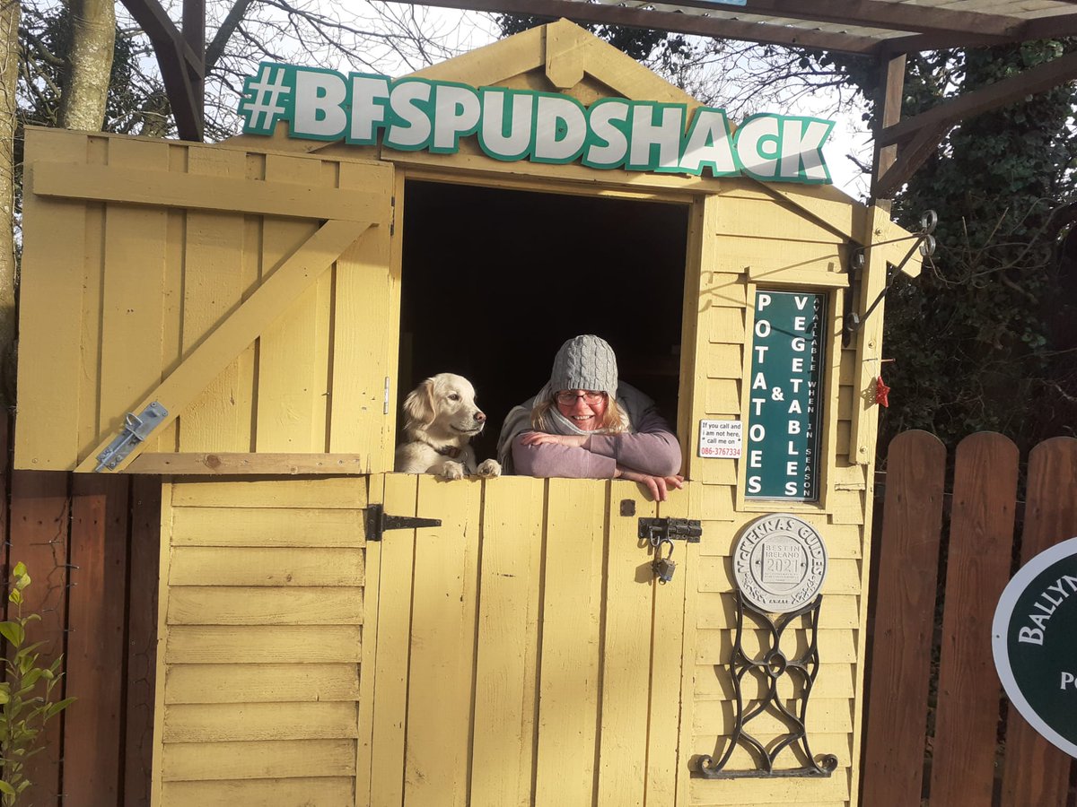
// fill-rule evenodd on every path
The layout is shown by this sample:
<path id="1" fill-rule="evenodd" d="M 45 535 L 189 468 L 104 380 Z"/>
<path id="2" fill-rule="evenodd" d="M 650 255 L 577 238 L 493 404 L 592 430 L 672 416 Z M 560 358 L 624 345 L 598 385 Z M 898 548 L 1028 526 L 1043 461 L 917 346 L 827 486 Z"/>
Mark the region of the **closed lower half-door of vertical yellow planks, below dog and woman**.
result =
<path id="1" fill-rule="evenodd" d="M 627 482 L 383 480 L 387 513 L 442 525 L 366 544 L 356 803 L 685 803 L 698 544 L 659 584 L 638 525 L 690 491 L 659 513 Z"/>

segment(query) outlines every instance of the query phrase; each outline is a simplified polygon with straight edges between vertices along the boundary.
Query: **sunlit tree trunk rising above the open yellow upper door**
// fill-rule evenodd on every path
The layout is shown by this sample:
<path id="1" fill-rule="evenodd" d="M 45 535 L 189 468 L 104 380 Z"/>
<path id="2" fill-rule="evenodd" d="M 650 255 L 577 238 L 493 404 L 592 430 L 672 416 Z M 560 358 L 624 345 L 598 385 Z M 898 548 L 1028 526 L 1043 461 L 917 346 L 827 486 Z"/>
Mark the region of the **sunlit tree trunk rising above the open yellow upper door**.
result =
<path id="1" fill-rule="evenodd" d="M 100 131 L 116 39 L 114 0 L 74 0 L 70 8 L 73 30 L 60 126 Z"/>

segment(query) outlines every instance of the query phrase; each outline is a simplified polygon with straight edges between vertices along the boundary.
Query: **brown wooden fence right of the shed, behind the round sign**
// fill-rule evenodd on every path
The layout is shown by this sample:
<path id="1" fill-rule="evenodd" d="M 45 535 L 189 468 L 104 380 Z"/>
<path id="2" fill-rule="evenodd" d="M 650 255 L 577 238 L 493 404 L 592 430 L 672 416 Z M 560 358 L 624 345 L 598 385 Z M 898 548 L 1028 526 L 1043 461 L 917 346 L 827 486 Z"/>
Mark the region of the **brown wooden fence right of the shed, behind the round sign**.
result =
<path id="1" fill-rule="evenodd" d="M 1077 536 L 1077 439 L 1032 450 L 1023 507 L 1018 475 L 1017 448 L 1001 435 L 959 444 L 950 486 L 935 437 L 908 431 L 890 445 L 872 552 L 864 807 L 1075 804 L 1074 761 L 1007 709 L 991 624 L 1017 567 Z"/>

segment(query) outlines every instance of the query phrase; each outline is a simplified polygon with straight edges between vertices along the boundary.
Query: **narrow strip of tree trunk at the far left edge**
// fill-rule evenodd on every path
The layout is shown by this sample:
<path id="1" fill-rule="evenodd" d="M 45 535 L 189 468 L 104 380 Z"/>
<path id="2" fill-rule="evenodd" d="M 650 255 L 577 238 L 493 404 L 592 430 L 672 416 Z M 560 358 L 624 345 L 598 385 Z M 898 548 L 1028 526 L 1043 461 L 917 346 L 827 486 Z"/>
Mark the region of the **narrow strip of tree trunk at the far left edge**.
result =
<path id="1" fill-rule="evenodd" d="M 0 2 L 0 406 L 15 406 L 15 85 L 18 0 Z"/>

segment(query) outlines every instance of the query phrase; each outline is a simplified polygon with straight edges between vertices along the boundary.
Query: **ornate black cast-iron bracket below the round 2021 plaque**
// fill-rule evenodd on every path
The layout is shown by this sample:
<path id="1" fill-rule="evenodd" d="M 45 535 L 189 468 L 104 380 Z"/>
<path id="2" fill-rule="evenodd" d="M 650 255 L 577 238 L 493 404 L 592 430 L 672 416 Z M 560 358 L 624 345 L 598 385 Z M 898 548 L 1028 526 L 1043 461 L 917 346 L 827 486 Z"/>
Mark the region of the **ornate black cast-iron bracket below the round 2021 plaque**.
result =
<path id="1" fill-rule="evenodd" d="M 838 758 L 834 754 L 821 754 L 819 761 L 812 756 L 808 746 L 808 731 L 805 716 L 808 712 L 808 698 L 812 684 L 819 671 L 819 645 L 816 633 L 819 627 L 819 611 L 823 596 L 816 596 L 802 608 L 771 619 L 770 614 L 751 603 L 738 590 L 737 592 L 737 634 L 733 643 L 732 660 L 728 669 L 732 677 L 736 694 L 736 721 L 728 740 L 728 747 L 717 762 L 713 756 L 699 759 L 698 776 L 707 779 L 737 779 L 765 777 L 828 777 L 838 767 Z M 744 614 L 747 613 L 768 632 L 769 649 L 759 659 L 750 659 L 744 652 L 742 642 L 744 632 Z M 808 648 L 799 656 L 789 659 L 781 650 L 782 634 L 791 624 L 806 617 L 808 632 Z M 745 677 L 760 682 L 760 696 L 749 697 L 747 703 L 754 704 L 745 708 L 743 682 Z M 794 683 L 794 699 L 797 702 L 791 710 L 779 697 L 778 684 L 783 679 Z M 796 689 L 800 684 L 799 692 Z M 780 736 L 777 742 L 765 744 L 749 734 L 745 726 L 760 714 L 769 713 L 781 720 L 788 731 Z M 745 748 L 755 758 L 757 766 L 753 770 L 726 770 L 726 764 L 738 748 Z M 802 764 L 797 768 L 774 768 L 774 760 L 786 748 L 792 747 L 792 753 Z"/>

